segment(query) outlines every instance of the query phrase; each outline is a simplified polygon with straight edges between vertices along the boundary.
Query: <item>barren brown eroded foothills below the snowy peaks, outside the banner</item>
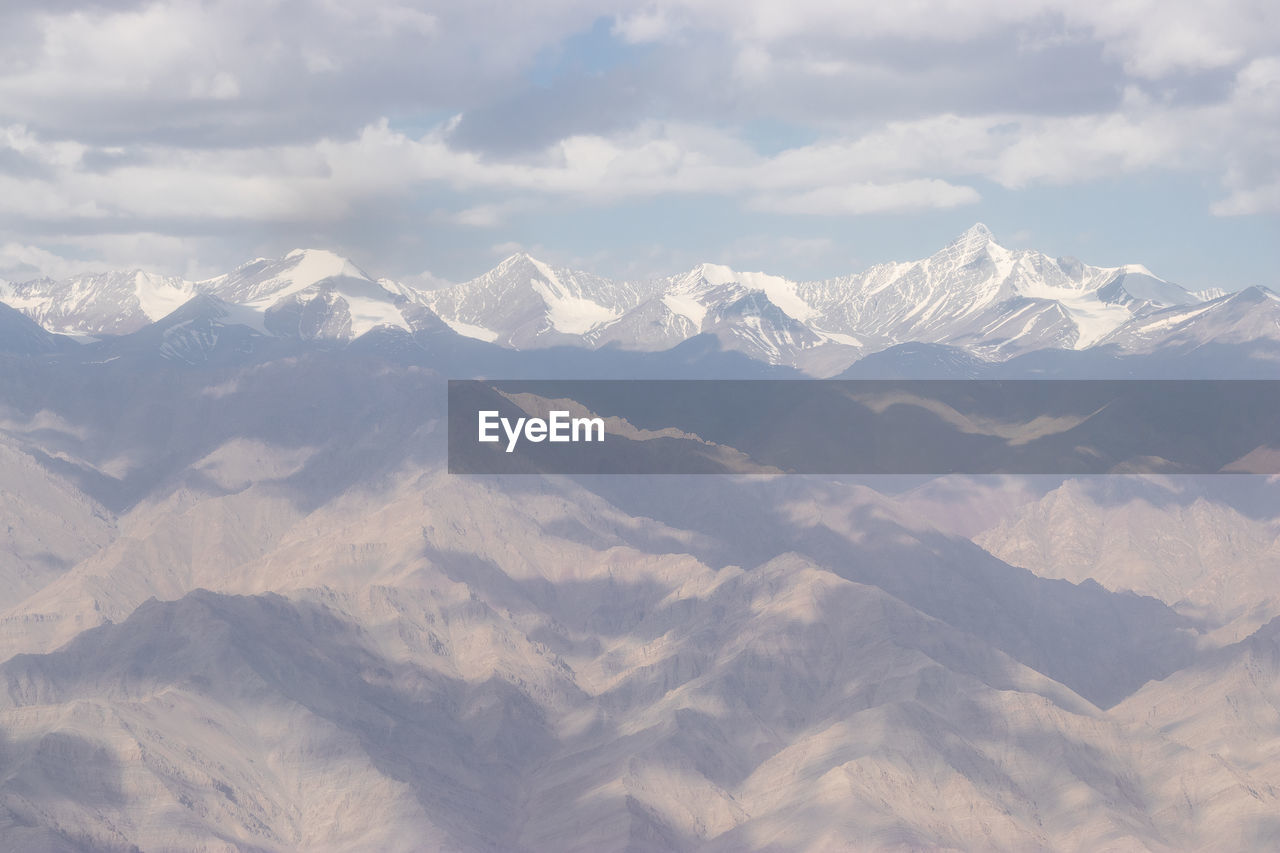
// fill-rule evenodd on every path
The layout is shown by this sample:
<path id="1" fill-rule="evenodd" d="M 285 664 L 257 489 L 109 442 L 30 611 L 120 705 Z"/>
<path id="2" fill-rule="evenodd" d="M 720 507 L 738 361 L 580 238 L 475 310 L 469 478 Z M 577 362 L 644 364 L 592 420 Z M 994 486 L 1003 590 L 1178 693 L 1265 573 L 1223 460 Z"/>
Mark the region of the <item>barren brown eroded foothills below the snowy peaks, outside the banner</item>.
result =
<path id="1" fill-rule="evenodd" d="M 1224 646 L 1179 612 L 1192 575 L 1161 575 L 1160 601 L 1085 571 L 1126 519 L 1153 532 L 1135 552 L 1176 528 L 1226 565 L 1265 501 L 1139 489 L 1112 516 L 1079 485 L 1005 488 L 1004 543 L 1078 520 L 1079 548 L 1044 552 L 1079 558 L 1070 583 L 1034 548 L 1015 567 L 942 533 L 963 491 L 454 476 L 429 370 L 250 361 L 15 368 L 69 373 L 10 393 L 4 421 L 23 532 L 4 570 L 29 581 L 0 613 L 6 843 L 1271 838 L 1280 779 L 1244 745 L 1280 726 L 1267 629 Z M 86 370 L 93 397 L 70 391 Z M 1183 704 L 1183 683 L 1247 704 Z"/>

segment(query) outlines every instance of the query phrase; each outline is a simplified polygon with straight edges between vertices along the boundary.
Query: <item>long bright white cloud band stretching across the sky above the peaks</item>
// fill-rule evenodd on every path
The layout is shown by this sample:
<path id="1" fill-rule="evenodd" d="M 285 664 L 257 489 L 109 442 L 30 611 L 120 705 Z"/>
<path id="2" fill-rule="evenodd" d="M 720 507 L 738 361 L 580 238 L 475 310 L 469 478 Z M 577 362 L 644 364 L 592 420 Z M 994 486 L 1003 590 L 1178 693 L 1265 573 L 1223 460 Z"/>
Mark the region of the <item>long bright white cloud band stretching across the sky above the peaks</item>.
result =
<path id="1" fill-rule="evenodd" d="M 332 223 L 361 202 L 431 187 L 498 193 L 449 216 L 472 227 L 500 224 L 538 197 L 607 204 L 708 193 L 749 200 L 754 209 L 829 215 L 952 207 L 978 201 L 964 183 L 973 178 L 1019 188 L 1203 163 L 1274 163 L 1248 133 L 1257 91 L 1270 91 L 1268 68 L 1251 67 L 1239 86 L 1244 95 L 1228 104 L 1178 108 L 1134 95 L 1121 110 L 1101 115 L 934 115 L 773 156 L 726 129 L 646 122 L 609 137 L 571 136 L 524 159 L 490 160 L 451 147 L 444 127 L 413 138 L 383 120 L 347 141 L 204 151 L 156 146 L 145 149 L 141 163 L 88 170 L 79 168 L 84 146 L 10 127 L 0 141 L 49 165 L 52 177 L 0 177 L 0 211 Z"/>

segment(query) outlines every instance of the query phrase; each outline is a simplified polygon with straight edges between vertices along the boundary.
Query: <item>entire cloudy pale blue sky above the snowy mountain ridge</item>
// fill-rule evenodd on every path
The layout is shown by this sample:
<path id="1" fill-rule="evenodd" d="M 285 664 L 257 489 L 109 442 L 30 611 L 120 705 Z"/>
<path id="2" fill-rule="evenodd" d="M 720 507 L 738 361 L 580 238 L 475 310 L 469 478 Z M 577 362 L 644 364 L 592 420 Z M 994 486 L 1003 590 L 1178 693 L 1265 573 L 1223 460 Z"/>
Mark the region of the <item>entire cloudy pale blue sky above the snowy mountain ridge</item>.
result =
<path id="1" fill-rule="evenodd" d="M 974 222 L 1280 287 L 1280 4 L 0 4 L 0 278 L 809 278 Z"/>

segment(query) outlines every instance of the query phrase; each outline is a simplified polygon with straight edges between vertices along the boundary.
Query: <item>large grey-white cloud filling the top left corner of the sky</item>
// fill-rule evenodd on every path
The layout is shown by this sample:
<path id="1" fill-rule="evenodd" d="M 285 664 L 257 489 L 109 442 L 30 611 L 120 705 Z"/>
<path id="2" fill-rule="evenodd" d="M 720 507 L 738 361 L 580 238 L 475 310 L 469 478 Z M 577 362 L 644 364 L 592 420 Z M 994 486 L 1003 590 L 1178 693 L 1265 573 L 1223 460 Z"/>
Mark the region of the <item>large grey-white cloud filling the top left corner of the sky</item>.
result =
<path id="1" fill-rule="evenodd" d="M 55 9 L 18 0 L 0 8 L 0 117 L 133 142 L 349 133 L 392 109 L 439 110 L 504 91 L 589 26 L 593 6 L 543 0 L 494 14 L 422 0 L 68 0 Z"/>

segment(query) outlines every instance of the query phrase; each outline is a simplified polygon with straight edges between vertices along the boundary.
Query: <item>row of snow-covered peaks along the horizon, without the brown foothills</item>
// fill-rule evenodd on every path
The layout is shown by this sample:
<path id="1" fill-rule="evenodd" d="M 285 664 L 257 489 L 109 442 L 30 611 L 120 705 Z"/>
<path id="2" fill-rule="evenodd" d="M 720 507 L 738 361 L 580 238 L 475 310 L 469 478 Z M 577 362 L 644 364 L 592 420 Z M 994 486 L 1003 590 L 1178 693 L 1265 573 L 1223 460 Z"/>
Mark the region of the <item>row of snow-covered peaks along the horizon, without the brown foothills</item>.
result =
<path id="1" fill-rule="evenodd" d="M 328 251 L 296 250 L 201 282 L 132 272 L 0 283 L 0 302 L 81 339 L 136 333 L 186 307 L 166 327 L 166 355 L 179 359 L 202 357 L 214 329 L 227 327 L 319 342 L 447 329 L 518 351 L 658 352 L 707 337 L 721 351 L 817 377 L 902 346 L 943 347 L 982 369 L 1036 352 L 1124 357 L 1280 339 L 1280 296 L 1270 289 L 1190 292 L 1140 265 L 1009 250 L 980 224 L 927 259 L 820 282 L 716 264 L 612 280 L 521 254 L 472 280 L 419 289 Z"/>

